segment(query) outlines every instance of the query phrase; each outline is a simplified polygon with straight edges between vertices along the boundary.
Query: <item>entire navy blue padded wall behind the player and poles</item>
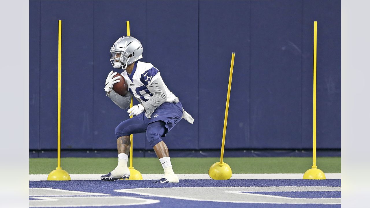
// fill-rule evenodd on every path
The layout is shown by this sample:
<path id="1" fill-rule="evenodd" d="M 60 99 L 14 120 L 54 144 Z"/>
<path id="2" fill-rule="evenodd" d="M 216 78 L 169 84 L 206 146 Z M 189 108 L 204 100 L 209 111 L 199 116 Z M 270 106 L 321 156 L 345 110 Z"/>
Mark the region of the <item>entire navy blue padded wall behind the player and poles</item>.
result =
<path id="1" fill-rule="evenodd" d="M 62 20 L 63 149 L 115 149 L 128 119 L 105 96 L 110 47 L 127 34 L 194 124 L 170 149 L 219 149 L 231 53 L 235 66 L 225 148 L 312 147 L 313 21 L 317 147 L 340 148 L 340 1 L 30 1 L 30 149 L 57 147 L 58 20 Z M 137 101 L 134 99 L 134 104 Z M 151 147 L 145 134 L 134 148 Z"/>

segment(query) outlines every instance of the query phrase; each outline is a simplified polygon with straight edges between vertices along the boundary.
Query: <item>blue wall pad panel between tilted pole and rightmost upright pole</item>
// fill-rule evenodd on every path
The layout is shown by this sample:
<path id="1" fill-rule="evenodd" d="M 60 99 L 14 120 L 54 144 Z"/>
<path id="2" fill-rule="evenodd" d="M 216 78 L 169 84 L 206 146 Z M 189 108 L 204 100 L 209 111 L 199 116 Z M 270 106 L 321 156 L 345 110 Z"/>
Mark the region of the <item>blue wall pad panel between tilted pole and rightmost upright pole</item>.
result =
<path id="1" fill-rule="evenodd" d="M 250 147 L 299 147 L 302 2 L 250 6 Z"/>

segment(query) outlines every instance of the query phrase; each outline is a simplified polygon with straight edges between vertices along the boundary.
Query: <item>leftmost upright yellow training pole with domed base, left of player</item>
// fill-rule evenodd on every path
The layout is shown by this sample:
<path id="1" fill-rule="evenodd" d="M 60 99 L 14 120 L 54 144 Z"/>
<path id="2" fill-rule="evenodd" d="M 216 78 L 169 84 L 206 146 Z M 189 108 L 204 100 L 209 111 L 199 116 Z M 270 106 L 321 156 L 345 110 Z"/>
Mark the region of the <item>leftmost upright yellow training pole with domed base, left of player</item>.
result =
<path id="1" fill-rule="evenodd" d="M 56 170 L 51 171 L 47 180 L 65 181 L 71 180 L 67 171 L 62 170 L 60 167 L 60 111 L 61 111 L 61 58 L 62 58 L 62 20 L 59 20 L 58 31 L 58 167 Z"/>

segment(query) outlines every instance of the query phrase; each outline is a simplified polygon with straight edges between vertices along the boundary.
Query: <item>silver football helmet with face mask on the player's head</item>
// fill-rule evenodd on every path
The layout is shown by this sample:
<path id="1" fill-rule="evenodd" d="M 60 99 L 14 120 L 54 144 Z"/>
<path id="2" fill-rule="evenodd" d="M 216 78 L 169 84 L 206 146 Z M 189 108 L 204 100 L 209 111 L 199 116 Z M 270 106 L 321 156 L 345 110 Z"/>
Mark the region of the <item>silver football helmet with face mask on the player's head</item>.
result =
<path id="1" fill-rule="evenodd" d="M 111 47 L 110 60 L 114 68 L 122 67 L 125 70 L 127 65 L 134 63 L 140 58 L 142 58 L 142 45 L 134 37 L 120 37 Z"/>

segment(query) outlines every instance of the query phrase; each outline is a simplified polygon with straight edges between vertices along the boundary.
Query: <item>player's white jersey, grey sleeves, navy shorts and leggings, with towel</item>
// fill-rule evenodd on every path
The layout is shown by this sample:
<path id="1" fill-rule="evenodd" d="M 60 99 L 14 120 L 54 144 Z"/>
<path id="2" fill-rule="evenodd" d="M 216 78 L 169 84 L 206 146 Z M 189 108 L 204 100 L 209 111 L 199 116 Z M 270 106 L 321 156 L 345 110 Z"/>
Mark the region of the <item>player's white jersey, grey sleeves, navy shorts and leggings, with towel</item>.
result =
<path id="1" fill-rule="evenodd" d="M 129 107 L 131 97 L 142 104 L 145 111 L 121 122 L 115 129 L 116 138 L 146 132 L 149 144 L 154 147 L 180 120 L 189 123 L 194 119 L 182 108 L 181 102 L 163 82 L 161 73 L 151 63 L 136 61 L 132 73 L 122 73 L 129 93 L 125 96 L 114 90 L 107 96 L 122 109 Z"/>

